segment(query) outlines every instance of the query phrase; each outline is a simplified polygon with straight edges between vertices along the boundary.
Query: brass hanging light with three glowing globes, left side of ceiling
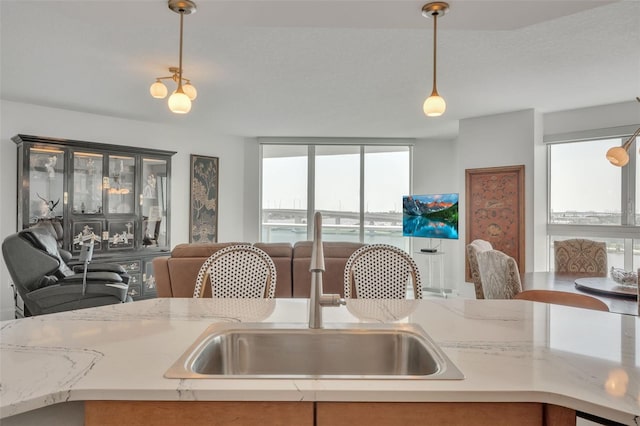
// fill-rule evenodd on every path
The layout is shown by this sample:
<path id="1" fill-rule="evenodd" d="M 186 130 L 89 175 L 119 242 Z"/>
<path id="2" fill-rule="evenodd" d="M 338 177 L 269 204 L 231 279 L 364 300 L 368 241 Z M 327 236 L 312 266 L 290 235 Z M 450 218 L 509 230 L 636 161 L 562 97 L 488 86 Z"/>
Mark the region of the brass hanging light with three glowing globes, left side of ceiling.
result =
<path id="1" fill-rule="evenodd" d="M 191 81 L 182 76 L 182 32 L 184 15 L 196 12 L 196 4 L 191 0 L 169 0 L 169 9 L 180 14 L 180 58 L 178 67 L 169 68 L 170 76 L 157 77 L 156 82 L 151 85 L 149 92 L 151 96 L 164 99 L 167 96 L 167 86 L 162 80 L 171 79 L 178 83 L 178 88 L 169 96 L 169 109 L 176 114 L 186 114 L 191 111 L 191 101 L 198 96 L 196 88 L 191 85 Z M 184 84 L 183 84 L 184 83 Z"/>

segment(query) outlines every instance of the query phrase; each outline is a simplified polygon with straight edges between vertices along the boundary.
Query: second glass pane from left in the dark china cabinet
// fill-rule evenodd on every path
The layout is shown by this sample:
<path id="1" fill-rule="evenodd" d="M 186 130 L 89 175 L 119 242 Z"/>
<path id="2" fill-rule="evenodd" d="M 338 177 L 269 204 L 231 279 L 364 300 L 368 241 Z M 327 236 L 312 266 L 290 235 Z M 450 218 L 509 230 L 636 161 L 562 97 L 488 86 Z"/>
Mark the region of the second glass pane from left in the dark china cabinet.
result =
<path id="1" fill-rule="evenodd" d="M 75 214 L 102 214 L 102 154 L 73 154 L 73 206 Z"/>

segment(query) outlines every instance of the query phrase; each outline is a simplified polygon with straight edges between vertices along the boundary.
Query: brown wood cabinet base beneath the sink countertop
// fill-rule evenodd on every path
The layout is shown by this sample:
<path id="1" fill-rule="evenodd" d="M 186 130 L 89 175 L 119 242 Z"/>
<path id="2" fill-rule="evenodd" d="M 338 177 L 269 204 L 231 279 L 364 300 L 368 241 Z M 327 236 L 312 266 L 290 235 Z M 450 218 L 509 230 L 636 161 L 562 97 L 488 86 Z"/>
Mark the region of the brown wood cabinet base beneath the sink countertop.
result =
<path id="1" fill-rule="evenodd" d="M 123 424 L 575 426 L 576 413 L 533 402 L 85 402 L 85 425 Z"/>

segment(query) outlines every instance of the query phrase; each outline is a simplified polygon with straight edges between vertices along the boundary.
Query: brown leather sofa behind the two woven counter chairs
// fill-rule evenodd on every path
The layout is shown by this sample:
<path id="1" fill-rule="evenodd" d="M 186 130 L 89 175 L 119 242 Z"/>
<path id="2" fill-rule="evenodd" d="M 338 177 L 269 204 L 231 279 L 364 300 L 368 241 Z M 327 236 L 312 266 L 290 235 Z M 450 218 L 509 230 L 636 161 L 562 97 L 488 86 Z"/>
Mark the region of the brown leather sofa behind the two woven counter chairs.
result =
<path id="1" fill-rule="evenodd" d="M 210 243 L 179 244 L 170 257 L 153 260 L 158 297 L 192 297 L 196 276 L 204 261 L 221 248 L 233 244 L 250 243 Z M 311 242 L 255 243 L 264 250 L 276 266 L 276 297 L 309 297 L 311 287 Z M 360 243 L 325 242 L 325 273 L 323 289 L 325 293 L 343 295 L 343 273 L 347 259 Z M 211 288 L 205 288 L 205 297 L 211 297 Z"/>

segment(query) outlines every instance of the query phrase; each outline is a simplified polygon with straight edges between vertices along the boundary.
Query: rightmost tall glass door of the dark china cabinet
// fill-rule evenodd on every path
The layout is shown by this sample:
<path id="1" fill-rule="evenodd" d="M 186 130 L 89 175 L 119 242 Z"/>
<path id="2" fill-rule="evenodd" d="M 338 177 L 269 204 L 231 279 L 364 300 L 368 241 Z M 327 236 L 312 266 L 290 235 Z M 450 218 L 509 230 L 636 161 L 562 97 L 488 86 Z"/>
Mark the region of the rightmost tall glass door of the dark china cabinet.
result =
<path id="1" fill-rule="evenodd" d="M 142 245 L 166 246 L 167 241 L 167 161 L 142 159 Z"/>

